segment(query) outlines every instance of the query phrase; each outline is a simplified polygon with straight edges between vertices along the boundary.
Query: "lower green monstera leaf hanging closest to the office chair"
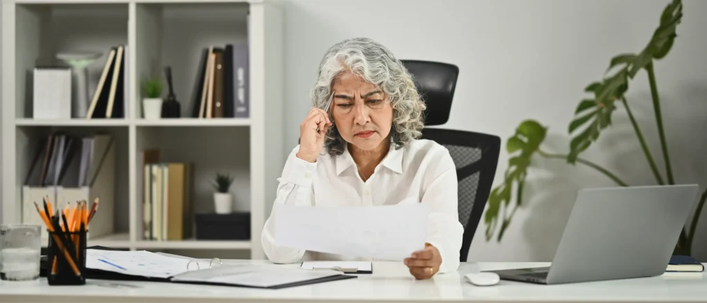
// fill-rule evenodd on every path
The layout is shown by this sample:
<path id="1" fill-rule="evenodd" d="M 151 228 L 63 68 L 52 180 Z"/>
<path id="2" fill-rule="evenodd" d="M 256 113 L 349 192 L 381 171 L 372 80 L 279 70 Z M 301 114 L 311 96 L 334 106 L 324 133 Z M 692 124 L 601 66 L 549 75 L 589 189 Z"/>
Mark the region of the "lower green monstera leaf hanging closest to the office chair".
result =
<path id="1" fill-rule="evenodd" d="M 510 223 L 510 218 L 506 218 L 506 210 L 510 206 L 512 198 L 513 185 L 517 184 L 516 192 L 516 207 L 522 203 L 522 190 L 525 184 L 525 176 L 527 168 L 530 166 L 532 155 L 539 150 L 540 143 L 544 141 L 547 128 L 540 125 L 537 121 L 526 120 L 522 121 L 518 128 L 515 129 L 515 134 L 506 141 L 506 150 L 510 155 L 508 159 L 508 168 L 503 177 L 503 183 L 489 194 L 489 206 L 486 209 L 484 221 L 486 222 L 486 240 L 491 239 L 491 235 L 498 225 L 498 216 L 503 204 L 503 222 L 501 223 L 501 231 L 498 233 L 498 240 L 503 237 L 503 232 Z"/>

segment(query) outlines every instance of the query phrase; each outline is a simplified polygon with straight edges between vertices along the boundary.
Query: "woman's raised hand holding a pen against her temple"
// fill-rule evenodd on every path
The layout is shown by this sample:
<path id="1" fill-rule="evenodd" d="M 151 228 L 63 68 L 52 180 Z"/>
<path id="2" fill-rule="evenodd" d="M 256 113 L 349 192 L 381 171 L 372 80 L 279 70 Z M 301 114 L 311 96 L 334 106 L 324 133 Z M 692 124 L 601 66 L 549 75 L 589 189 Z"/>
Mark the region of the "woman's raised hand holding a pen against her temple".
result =
<path id="1" fill-rule="evenodd" d="M 300 124 L 300 150 L 297 158 L 315 162 L 324 148 L 324 138 L 332 121 L 324 109 L 312 108 Z M 318 130 L 318 131 L 317 131 Z"/>

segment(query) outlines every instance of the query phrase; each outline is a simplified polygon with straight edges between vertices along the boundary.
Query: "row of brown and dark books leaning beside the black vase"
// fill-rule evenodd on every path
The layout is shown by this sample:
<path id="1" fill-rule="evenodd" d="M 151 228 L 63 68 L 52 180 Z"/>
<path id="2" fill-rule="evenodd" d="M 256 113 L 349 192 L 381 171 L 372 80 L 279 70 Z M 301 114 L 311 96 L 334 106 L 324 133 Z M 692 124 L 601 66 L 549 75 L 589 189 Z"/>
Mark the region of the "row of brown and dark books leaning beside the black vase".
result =
<path id="1" fill-rule="evenodd" d="M 249 115 L 248 44 L 209 46 L 202 51 L 194 83 L 193 118 L 245 118 Z"/>

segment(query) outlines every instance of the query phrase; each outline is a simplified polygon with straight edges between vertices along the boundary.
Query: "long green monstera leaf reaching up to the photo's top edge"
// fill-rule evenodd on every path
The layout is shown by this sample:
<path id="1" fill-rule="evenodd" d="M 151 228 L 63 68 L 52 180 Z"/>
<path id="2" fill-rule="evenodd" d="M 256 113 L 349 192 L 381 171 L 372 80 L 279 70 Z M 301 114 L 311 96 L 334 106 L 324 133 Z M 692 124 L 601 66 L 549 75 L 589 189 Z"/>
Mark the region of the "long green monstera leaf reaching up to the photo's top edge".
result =
<path id="1" fill-rule="evenodd" d="M 574 119 L 568 126 L 570 152 L 567 162 L 574 164 L 584 150 L 599 138 L 603 129 L 611 125 L 615 102 L 621 100 L 629 89 L 629 79 L 641 69 L 652 68 L 653 59 L 662 59 L 670 52 L 677 37 L 675 29 L 682 20 L 682 1 L 668 4 L 660 16 L 660 25 L 653 32 L 648 45 L 639 54 L 619 54 L 611 59 L 607 73 L 617 66 L 621 68 L 600 82 L 591 83 L 585 92 L 593 93 L 592 99 L 585 99 L 575 108 Z"/>

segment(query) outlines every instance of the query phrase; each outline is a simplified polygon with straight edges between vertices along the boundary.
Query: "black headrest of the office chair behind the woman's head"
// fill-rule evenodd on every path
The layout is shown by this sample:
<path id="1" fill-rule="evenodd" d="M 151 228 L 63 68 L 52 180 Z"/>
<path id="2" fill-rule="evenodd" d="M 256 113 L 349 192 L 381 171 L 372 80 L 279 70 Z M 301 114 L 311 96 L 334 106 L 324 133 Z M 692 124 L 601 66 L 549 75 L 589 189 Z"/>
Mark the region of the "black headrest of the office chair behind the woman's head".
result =
<path id="1" fill-rule="evenodd" d="M 459 67 L 435 61 L 401 60 L 412 74 L 415 87 L 427 105 L 425 125 L 447 123 L 457 86 Z"/>

